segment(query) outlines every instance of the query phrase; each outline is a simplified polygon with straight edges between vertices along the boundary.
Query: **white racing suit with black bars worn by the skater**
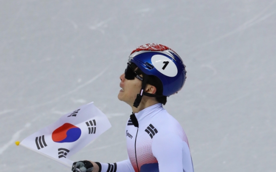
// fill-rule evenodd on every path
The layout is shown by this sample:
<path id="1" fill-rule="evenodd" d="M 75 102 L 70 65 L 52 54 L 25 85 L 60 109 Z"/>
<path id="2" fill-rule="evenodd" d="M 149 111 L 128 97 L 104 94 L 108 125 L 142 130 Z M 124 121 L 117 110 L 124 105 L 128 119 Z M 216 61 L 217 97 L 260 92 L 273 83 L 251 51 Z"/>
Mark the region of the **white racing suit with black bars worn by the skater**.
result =
<path id="1" fill-rule="evenodd" d="M 125 128 L 128 159 L 97 163 L 101 172 L 193 172 L 187 137 L 162 104 L 131 116 Z"/>

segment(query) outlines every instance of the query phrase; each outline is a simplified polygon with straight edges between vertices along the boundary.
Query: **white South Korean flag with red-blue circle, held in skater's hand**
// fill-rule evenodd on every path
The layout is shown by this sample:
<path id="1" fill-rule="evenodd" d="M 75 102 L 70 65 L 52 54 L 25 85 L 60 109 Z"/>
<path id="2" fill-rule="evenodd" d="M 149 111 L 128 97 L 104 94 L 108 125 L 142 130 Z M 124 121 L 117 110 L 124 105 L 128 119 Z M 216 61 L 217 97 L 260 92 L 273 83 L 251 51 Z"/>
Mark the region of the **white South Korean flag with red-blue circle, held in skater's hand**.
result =
<path id="1" fill-rule="evenodd" d="M 68 158 L 111 127 L 93 102 L 63 115 L 20 142 L 20 146 L 71 167 Z"/>

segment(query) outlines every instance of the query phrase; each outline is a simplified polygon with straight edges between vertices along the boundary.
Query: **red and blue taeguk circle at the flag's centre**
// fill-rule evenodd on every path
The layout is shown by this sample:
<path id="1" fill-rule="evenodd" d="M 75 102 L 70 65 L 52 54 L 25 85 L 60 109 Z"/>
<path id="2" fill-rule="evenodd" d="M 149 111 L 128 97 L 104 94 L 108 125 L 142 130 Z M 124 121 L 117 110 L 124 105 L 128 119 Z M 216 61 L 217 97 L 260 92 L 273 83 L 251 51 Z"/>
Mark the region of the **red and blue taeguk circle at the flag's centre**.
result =
<path id="1" fill-rule="evenodd" d="M 75 142 L 81 135 L 81 130 L 69 123 L 65 123 L 52 132 L 52 141 L 57 143 Z"/>

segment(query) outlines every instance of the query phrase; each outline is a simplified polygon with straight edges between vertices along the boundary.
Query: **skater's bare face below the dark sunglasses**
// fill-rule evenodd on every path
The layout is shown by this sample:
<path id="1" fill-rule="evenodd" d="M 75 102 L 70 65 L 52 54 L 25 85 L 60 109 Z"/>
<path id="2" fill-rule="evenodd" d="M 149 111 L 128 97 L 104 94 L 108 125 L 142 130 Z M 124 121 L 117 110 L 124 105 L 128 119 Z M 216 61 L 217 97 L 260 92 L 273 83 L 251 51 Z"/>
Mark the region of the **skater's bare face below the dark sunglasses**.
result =
<path id="1" fill-rule="evenodd" d="M 119 91 L 118 99 L 132 106 L 141 90 L 142 81 L 136 77 L 132 80 L 127 80 L 124 77 L 124 73 L 120 75 L 120 81 L 121 90 Z"/>

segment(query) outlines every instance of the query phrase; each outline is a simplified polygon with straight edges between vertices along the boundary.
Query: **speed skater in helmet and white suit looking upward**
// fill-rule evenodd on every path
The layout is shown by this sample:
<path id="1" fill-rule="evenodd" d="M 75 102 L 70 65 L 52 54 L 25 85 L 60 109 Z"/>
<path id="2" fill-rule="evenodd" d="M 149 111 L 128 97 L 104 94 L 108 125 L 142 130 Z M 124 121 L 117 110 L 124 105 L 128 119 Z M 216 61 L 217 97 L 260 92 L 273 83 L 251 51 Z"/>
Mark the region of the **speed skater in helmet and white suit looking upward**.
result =
<path id="1" fill-rule="evenodd" d="M 193 172 L 187 137 L 162 107 L 184 85 L 181 58 L 164 45 L 141 45 L 131 52 L 119 78 L 118 99 L 132 108 L 125 128 L 128 159 L 112 164 L 79 161 L 72 171 Z"/>

